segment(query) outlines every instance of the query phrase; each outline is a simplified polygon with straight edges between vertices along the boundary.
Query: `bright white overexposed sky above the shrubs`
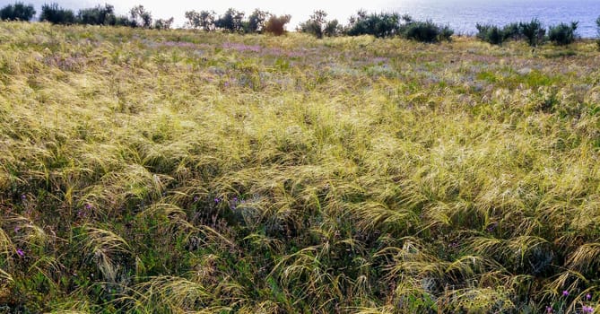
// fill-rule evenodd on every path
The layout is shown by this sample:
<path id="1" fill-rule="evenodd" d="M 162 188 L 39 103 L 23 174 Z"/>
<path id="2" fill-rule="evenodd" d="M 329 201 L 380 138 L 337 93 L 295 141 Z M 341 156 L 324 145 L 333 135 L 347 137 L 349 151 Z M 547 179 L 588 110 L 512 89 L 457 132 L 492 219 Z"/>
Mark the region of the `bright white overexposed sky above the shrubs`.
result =
<path id="1" fill-rule="evenodd" d="M 117 13 L 125 14 L 131 7 L 137 4 L 143 4 L 144 8 L 152 13 L 154 19 L 175 18 L 175 26 L 182 26 L 186 22 L 184 13 L 186 11 L 213 10 L 215 13 L 222 14 L 232 7 L 236 10 L 245 12 L 247 15 L 254 9 L 259 8 L 277 15 L 291 14 L 291 22 L 288 29 L 291 31 L 297 24 L 309 19 L 309 15 L 315 10 L 324 10 L 328 13 L 328 19 L 337 19 L 339 22 L 346 23 L 348 18 L 359 9 L 365 9 L 369 12 L 391 11 L 394 7 L 391 0 L 301 0 L 301 1 L 282 1 L 282 0 L 220 0 L 220 1 L 189 1 L 189 0 L 119 0 L 119 1 L 74 1 L 74 0 L 21 0 L 25 4 L 33 4 L 36 10 L 40 11 L 42 4 L 57 2 L 60 6 L 73 9 L 76 13 L 78 9 L 92 7 L 97 4 L 109 3 L 115 6 Z M 13 0 L 0 0 L 0 6 L 13 4 Z"/>

